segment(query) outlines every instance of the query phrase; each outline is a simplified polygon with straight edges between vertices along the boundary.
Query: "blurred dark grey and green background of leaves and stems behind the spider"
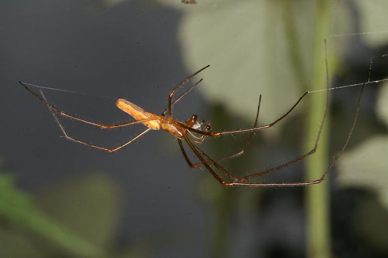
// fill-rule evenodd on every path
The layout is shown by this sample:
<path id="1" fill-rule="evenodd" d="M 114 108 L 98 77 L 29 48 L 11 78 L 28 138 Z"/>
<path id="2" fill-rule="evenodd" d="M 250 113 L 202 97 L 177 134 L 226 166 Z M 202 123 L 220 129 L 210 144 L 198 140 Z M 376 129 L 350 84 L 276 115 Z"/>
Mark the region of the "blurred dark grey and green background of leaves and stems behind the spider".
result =
<path id="1" fill-rule="evenodd" d="M 58 108 L 109 124 L 130 118 L 107 97 L 161 113 L 171 89 L 210 64 L 174 116 L 195 113 L 225 130 L 252 126 L 260 94 L 266 124 L 306 90 L 325 88 L 324 39 L 331 87 L 388 78 L 384 0 L 196 2 L 1 1 L 1 257 L 387 257 L 388 85 L 366 86 L 353 138 L 323 184 L 226 189 L 190 169 L 162 131 L 114 154 L 65 140 L 47 107 L 18 84 L 86 93 L 44 91 Z M 253 181 L 319 177 L 346 140 L 359 91 L 330 92 L 313 157 Z M 307 95 L 258 131 L 244 156 L 222 164 L 241 176 L 306 153 L 324 97 Z M 103 146 L 143 129 L 60 119 L 70 135 Z M 222 157 L 247 137 L 200 147 Z"/>

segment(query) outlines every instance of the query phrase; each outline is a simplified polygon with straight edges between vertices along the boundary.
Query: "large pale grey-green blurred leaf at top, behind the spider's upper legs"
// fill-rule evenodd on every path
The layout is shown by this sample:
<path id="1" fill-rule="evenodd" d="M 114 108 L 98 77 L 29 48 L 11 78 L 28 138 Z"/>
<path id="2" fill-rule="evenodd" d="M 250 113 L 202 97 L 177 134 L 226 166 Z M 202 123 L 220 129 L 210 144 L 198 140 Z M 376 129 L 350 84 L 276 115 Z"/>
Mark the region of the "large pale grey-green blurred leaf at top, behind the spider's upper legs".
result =
<path id="1" fill-rule="evenodd" d="M 266 123 L 284 114 L 305 90 L 324 88 L 311 78 L 316 17 L 310 14 L 316 8 L 316 2 L 304 0 L 292 4 L 224 0 L 185 9 L 178 38 L 188 67 L 211 65 L 200 75 L 205 80 L 198 87 L 208 102 L 222 103 L 229 113 L 254 117 L 262 94 L 260 121 Z M 330 3 L 329 8 L 337 16 L 326 27 L 347 28 L 348 6 Z M 329 53 L 343 50 L 328 44 Z M 321 49 L 323 54 L 323 39 Z M 302 110 L 299 106 L 293 114 Z"/>

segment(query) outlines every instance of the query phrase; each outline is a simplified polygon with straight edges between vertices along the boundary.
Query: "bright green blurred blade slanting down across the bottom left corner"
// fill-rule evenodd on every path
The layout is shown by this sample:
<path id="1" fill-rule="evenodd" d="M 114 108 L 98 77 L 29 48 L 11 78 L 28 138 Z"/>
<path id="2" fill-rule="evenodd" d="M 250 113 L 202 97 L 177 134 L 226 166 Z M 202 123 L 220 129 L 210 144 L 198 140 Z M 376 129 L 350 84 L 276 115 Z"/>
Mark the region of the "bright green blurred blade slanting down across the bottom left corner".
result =
<path id="1" fill-rule="evenodd" d="M 27 194 L 16 188 L 14 178 L 7 174 L 0 174 L 0 217 L 8 222 L 10 227 L 29 230 L 74 255 L 96 257 L 102 253 L 98 246 L 85 241 L 38 209 Z M 19 240 L 20 243 L 24 242 L 18 237 L 14 239 Z M 26 248 L 17 246 L 14 252 L 26 251 L 27 253 L 24 254 L 30 256 L 30 249 L 33 249 L 32 246 L 26 246 Z M 10 249 L 0 249 L 0 253 L 7 251 Z M 4 256 L 1 255 L 1 257 Z"/>

